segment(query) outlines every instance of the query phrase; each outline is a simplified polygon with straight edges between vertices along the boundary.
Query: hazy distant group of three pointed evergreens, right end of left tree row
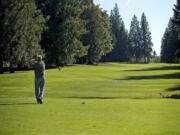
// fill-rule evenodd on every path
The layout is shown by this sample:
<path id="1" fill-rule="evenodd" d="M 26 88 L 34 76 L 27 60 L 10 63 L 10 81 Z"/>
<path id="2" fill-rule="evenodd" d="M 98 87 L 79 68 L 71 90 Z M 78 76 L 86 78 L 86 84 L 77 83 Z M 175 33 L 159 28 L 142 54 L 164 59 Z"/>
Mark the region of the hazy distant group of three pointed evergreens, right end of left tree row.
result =
<path id="1" fill-rule="evenodd" d="M 110 22 L 114 49 L 103 59 L 115 62 L 150 62 L 153 43 L 145 13 L 142 14 L 140 22 L 136 15 L 133 16 L 128 33 L 116 4 L 111 11 Z"/>

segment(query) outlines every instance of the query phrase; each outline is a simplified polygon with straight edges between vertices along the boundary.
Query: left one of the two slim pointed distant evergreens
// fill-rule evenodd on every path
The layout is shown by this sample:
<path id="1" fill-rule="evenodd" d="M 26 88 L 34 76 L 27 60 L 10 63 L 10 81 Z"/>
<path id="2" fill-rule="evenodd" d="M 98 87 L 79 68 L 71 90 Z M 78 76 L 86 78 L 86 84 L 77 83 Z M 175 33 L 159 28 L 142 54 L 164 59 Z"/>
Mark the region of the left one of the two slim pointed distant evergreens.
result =
<path id="1" fill-rule="evenodd" d="M 135 15 L 131 21 L 128 42 L 129 57 L 135 58 L 135 61 L 138 62 L 142 57 L 142 32 L 139 21 Z"/>

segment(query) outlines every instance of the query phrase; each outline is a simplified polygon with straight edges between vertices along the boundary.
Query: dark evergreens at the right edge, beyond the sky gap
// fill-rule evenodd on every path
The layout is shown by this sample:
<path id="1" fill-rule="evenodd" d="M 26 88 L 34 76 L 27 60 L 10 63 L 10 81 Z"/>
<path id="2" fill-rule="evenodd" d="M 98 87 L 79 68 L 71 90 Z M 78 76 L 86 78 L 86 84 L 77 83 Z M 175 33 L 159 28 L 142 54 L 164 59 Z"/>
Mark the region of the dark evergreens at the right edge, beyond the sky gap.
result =
<path id="1" fill-rule="evenodd" d="M 180 62 L 180 0 L 177 0 L 173 11 L 162 38 L 161 62 Z"/>

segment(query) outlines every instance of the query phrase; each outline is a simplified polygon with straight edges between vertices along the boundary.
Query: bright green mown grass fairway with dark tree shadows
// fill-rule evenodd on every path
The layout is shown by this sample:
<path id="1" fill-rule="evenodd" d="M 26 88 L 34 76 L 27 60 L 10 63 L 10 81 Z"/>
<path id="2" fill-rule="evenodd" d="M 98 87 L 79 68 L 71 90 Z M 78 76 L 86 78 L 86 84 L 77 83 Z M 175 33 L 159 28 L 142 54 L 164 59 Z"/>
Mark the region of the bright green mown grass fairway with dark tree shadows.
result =
<path id="1" fill-rule="evenodd" d="M 172 96 L 173 95 L 173 96 Z M 180 135 L 178 64 L 77 65 L 0 75 L 0 135 Z M 85 104 L 82 104 L 85 102 Z"/>

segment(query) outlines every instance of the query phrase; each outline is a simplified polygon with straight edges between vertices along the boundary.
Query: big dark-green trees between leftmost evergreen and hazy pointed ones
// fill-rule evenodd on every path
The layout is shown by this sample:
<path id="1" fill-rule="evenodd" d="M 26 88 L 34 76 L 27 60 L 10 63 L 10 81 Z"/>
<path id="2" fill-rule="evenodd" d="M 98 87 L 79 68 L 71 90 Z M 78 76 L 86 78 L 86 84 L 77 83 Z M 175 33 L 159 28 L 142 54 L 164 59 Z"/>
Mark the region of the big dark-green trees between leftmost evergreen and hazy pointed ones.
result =
<path id="1" fill-rule="evenodd" d="M 44 16 L 50 17 L 41 42 L 47 63 L 94 63 L 112 50 L 108 15 L 92 0 L 36 0 L 36 3 Z M 52 10 L 46 10 L 48 6 Z"/>

